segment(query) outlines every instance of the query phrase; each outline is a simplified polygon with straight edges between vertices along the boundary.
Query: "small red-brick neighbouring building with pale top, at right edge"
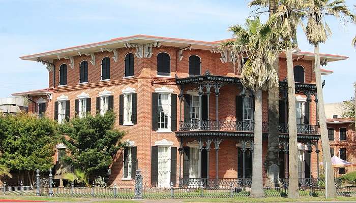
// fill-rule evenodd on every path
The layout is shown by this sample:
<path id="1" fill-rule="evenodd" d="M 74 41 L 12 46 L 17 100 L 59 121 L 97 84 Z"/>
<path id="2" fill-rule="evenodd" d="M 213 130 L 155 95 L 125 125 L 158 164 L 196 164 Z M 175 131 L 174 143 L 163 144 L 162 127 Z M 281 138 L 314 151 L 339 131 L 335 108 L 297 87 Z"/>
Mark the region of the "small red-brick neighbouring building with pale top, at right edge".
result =
<path id="1" fill-rule="evenodd" d="M 342 118 L 343 103 L 325 104 L 331 156 L 356 163 L 356 133 L 354 118 Z M 356 166 L 339 168 L 337 176 L 356 171 Z"/>

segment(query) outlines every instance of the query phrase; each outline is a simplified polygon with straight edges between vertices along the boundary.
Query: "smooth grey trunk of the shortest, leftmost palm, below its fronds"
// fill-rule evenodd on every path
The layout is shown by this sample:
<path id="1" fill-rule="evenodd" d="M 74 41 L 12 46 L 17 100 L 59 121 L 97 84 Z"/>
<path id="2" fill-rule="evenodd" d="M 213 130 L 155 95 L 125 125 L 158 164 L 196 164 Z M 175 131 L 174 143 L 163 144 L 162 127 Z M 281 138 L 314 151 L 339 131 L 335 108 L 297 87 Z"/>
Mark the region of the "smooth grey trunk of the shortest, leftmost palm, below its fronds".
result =
<path id="1" fill-rule="evenodd" d="M 255 133 L 253 148 L 253 167 L 251 196 L 263 197 L 262 181 L 262 90 L 257 90 L 255 95 Z"/>

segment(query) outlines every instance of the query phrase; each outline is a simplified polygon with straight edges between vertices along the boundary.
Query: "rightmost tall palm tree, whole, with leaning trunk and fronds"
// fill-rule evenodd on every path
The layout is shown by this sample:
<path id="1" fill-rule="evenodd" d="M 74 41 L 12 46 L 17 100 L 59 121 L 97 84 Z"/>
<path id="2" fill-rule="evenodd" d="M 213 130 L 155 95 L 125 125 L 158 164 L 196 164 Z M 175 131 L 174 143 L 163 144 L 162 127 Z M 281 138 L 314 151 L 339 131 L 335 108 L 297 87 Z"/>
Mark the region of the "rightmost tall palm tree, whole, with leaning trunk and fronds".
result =
<path id="1" fill-rule="evenodd" d="M 325 15 L 335 16 L 336 18 L 341 17 L 344 19 L 344 22 L 346 22 L 345 17 L 354 19 L 354 16 L 348 10 L 344 0 L 310 0 L 307 12 L 308 22 L 305 33 L 309 43 L 314 46 L 315 80 L 316 90 L 318 92 L 321 147 L 323 153 L 323 163 L 328 166 L 325 168 L 328 172 L 328 175 L 325 176 L 325 179 L 327 179 L 328 182 L 328 190 L 325 192 L 325 196 L 334 198 L 337 196 L 337 193 L 333 177 L 333 169 L 331 166 L 330 145 L 322 94 L 319 43 L 324 43 L 331 35 L 331 29 L 325 22 Z"/>

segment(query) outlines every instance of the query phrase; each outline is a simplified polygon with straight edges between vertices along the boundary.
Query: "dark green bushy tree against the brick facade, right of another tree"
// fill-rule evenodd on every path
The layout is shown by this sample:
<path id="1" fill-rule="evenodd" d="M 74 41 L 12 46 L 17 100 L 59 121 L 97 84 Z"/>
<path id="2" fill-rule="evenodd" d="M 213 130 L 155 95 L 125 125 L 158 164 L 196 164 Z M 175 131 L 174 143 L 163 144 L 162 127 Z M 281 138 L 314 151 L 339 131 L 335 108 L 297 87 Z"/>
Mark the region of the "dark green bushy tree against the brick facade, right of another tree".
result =
<path id="1" fill-rule="evenodd" d="M 63 143 L 70 151 L 62 161 L 73 164 L 87 176 L 105 175 L 113 156 L 122 147 L 120 141 L 125 134 L 114 129 L 115 118 L 109 111 L 104 116 L 87 115 L 61 125 L 61 131 L 66 135 Z"/>

